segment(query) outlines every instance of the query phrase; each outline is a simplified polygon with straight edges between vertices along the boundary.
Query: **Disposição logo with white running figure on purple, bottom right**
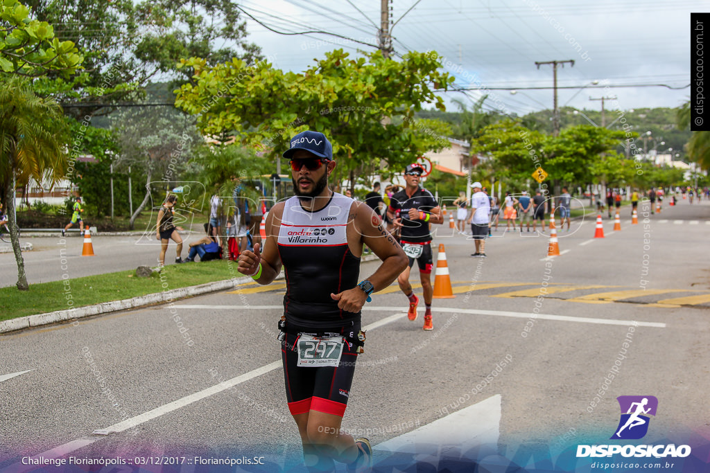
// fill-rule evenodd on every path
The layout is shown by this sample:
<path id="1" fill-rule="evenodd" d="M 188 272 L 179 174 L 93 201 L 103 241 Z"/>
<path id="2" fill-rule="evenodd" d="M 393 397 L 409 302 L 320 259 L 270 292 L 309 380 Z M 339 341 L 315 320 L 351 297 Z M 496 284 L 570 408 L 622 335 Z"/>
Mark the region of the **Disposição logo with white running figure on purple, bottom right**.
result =
<path id="1" fill-rule="evenodd" d="M 656 415 L 658 399 L 655 396 L 618 396 L 621 418 L 610 440 L 638 440 L 648 433 L 650 416 Z M 687 457 L 689 445 L 577 445 L 580 457 Z"/>

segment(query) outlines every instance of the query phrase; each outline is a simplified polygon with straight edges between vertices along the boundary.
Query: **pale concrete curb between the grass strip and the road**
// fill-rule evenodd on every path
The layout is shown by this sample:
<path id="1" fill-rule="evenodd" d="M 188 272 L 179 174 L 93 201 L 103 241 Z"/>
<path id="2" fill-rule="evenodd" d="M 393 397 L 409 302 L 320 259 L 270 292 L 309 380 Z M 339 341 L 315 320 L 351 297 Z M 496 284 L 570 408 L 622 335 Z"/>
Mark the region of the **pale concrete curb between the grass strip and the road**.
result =
<path id="1" fill-rule="evenodd" d="M 376 259 L 378 259 L 376 255 L 366 255 L 362 257 L 361 262 Z M 282 271 L 275 279 L 284 278 L 285 275 Z M 65 311 L 38 313 L 33 316 L 12 318 L 8 321 L 0 321 L 0 334 L 14 332 L 16 330 L 24 330 L 26 328 L 51 325 L 53 323 L 73 321 L 77 318 L 98 316 L 102 313 L 126 311 L 131 308 L 153 306 L 163 302 L 172 302 L 176 299 L 200 296 L 201 294 L 207 294 L 209 292 L 225 291 L 226 289 L 234 289 L 234 287 L 239 284 L 251 281 L 252 279 L 249 276 L 240 277 L 238 279 L 224 279 L 222 281 L 200 284 L 198 286 L 187 286 L 155 294 L 146 294 L 145 296 L 137 296 L 131 299 L 123 299 L 121 301 L 102 302 L 101 304 L 94 304 L 93 306 L 70 308 Z"/>

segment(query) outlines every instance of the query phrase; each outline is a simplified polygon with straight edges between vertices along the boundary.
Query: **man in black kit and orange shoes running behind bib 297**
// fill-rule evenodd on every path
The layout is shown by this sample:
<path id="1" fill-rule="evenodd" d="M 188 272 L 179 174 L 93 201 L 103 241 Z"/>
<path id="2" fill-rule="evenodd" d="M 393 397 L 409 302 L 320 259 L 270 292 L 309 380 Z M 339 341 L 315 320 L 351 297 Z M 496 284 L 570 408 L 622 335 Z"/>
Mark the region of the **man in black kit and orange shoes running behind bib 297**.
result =
<path id="1" fill-rule="evenodd" d="M 417 318 L 417 305 L 419 298 L 414 294 L 412 285 L 409 284 L 409 274 L 417 260 L 419 275 L 424 292 L 424 330 L 432 330 L 432 235 L 429 231 L 430 223 L 443 223 L 441 208 L 430 191 L 419 187 L 424 168 L 417 164 L 408 165 L 405 169 L 404 179 L 407 186 L 390 198 L 387 208 L 388 217 L 395 226 L 400 227 L 402 237 L 400 243 L 409 257 L 409 266 L 397 279 L 400 289 L 409 299 L 407 316 L 410 321 Z"/>

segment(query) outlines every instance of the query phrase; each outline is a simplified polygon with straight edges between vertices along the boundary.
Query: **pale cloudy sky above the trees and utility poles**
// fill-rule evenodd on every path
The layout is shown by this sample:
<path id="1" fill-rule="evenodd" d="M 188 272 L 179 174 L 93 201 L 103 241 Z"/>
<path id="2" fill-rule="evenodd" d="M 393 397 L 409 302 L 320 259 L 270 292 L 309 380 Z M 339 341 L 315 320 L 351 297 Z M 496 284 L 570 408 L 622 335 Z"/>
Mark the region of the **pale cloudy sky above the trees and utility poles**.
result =
<path id="1" fill-rule="evenodd" d="M 379 0 L 243 0 L 262 23 L 282 32 L 324 30 L 376 44 Z M 416 4 L 416 5 L 415 5 Z M 406 13 L 410 7 L 414 9 Z M 589 97 L 616 96 L 605 108 L 675 107 L 690 94 L 690 13 L 709 11 L 699 0 L 391 0 L 395 52 L 435 50 L 456 71 L 457 85 L 491 89 L 488 109 L 522 115 L 552 108 L 552 66 L 559 106 L 601 108 Z M 247 18 L 249 39 L 280 69 L 300 72 L 334 48 L 356 54 L 366 45 L 322 34 L 281 35 Z M 401 17 L 401 19 L 400 19 Z M 597 87 L 592 82 L 599 81 Z M 668 87 L 614 87 L 665 84 Z M 604 85 L 608 89 L 603 88 Z M 583 87 L 586 87 L 583 89 Z M 494 88 L 513 88 L 495 90 Z M 677 88 L 677 89 L 676 89 Z M 471 100 L 447 93 L 452 98 Z M 455 110 L 455 106 L 447 106 Z"/>

